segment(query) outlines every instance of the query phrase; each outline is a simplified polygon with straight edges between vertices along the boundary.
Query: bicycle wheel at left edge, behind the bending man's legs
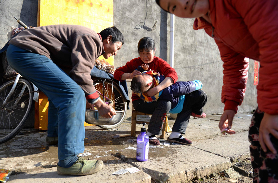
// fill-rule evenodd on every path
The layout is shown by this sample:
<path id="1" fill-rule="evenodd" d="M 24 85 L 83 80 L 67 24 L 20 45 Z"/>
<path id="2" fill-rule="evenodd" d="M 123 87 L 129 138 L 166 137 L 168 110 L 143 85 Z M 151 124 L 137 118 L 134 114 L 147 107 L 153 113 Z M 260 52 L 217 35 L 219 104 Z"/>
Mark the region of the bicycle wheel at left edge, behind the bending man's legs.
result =
<path id="1" fill-rule="evenodd" d="M 34 105 L 33 87 L 23 78 L 19 79 L 7 103 L 2 105 L 14 82 L 7 81 L 0 87 L 0 144 L 12 139 L 22 130 Z"/>

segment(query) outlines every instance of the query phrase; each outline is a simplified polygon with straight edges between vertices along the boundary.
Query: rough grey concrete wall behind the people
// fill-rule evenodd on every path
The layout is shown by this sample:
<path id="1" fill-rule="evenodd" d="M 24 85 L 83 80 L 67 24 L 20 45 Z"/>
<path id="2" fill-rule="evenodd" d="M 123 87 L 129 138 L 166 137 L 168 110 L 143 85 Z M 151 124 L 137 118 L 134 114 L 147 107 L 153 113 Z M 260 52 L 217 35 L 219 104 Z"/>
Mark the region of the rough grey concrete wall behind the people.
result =
<path id="1" fill-rule="evenodd" d="M 0 0 L 0 47 L 7 42 L 10 27 L 18 24 L 17 16 L 27 25 L 36 26 L 37 0 Z M 154 18 L 157 18 L 156 29 Z M 221 103 L 222 61 L 214 40 L 204 30 L 193 30 L 194 19 L 175 17 L 175 62 L 179 81 L 199 79 L 208 95 L 204 112 L 223 112 Z M 170 14 L 161 10 L 155 0 L 114 0 L 114 26 L 125 37 L 122 49 L 115 56 L 115 66 L 123 66 L 129 60 L 138 57 L 137 43 L 145 36 L 154 38 L 156 56 L 169 62 L 169 25 Z M 247 91 L 239 112 L 250 112 L 256 104 L 256 88 L 253 85 L 254 61 L 250 60 Z M 128 115 L 129 116 L 129 115 Z"/>

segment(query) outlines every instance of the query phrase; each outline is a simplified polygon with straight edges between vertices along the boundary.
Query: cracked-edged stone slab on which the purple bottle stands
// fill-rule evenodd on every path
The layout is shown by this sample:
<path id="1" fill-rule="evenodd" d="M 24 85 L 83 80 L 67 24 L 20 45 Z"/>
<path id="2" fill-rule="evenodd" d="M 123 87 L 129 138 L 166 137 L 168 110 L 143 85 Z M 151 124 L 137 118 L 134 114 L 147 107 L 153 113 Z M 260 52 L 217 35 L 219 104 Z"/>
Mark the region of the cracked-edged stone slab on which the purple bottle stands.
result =
<path id="1" fill-rule="evenodd" d="M 149 160 L 139 162 L 136 150 L 117 153 L 123 161 L 148 173 L 158 182 L 185 182 L 218 173 L 231 166 L 230 160 L 187 145 L 149 149 Z"/>

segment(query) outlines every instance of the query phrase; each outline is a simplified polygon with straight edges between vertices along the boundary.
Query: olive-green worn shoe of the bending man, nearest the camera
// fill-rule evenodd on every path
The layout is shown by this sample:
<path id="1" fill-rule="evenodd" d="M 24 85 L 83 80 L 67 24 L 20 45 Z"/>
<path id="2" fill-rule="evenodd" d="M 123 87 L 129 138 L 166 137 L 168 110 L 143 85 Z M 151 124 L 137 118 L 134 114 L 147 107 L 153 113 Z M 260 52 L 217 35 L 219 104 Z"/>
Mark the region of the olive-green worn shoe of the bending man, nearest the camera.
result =
<path id="1" fill-rule="evenodd" d="M 59 175 L 91 175 L 103 168 L 101 160 L 84 160 L 78 157 L 78 160 L 69 168 L 63 168 L 57 165 Z"/>

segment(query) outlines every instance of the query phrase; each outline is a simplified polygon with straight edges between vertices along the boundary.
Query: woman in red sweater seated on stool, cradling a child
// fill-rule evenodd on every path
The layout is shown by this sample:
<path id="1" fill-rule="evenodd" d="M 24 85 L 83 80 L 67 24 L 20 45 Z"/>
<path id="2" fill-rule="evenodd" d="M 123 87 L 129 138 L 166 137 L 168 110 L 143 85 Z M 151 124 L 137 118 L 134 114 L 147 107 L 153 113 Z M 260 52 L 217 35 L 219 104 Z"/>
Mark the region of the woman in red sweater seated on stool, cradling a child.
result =
<path id="1" fill-rule="evenodd" d="M 137 67 L 145 64 L 144 66 L 147 68 L 146 70 L 151 69 L 152 71 L 159 72 L 165 76 L 165 79 L 157 87 L 150 89 L 146 93 L 148 96 L 154 96 L 177 81 L 178 75 L 175 69 L 166 61 L 154 56 L 155 44 L 152 38 L 144 37 L 140 39 L 138 43 L 138 52 L 140 57 L 132 59 L 123 67 L 116 69 L 114 73 L 115 79 L 119 81 L 132 79 L 134 76 L 141 74 L 140 71 L 136 70 Z M 132 95 L 131 99 L 135 110 L 152 114 L 147 135 L 150 137 L 150 144 L 160 145 L 159 140 L 156 139 L 155 135 L 161 135 L 162 124 L 171 109 L 171 102 L 158 100 L 153 103 L 145 103 L 144 100 L 140 99 L 137 95 Z"/>

